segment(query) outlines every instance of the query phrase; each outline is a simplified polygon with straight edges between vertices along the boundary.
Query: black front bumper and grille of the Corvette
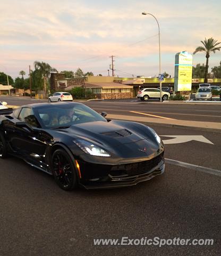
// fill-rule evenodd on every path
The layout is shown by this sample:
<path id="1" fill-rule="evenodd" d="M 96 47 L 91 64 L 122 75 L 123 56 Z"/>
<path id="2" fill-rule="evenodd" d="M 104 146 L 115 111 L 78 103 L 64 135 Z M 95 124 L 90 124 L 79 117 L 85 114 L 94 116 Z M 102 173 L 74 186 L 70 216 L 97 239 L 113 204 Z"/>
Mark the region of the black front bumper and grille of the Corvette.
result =
<path id="1" fill-rule="evenodd" d="M 163 154 L 138 163 L 125 165 L 100 165 L 79 163 L 83 170 L 80 185 L 86 189 L 120 188 L 137 185 L 163 174 L 165 161 Z M 90 169 L 90 170 L 89 170 Z"/>

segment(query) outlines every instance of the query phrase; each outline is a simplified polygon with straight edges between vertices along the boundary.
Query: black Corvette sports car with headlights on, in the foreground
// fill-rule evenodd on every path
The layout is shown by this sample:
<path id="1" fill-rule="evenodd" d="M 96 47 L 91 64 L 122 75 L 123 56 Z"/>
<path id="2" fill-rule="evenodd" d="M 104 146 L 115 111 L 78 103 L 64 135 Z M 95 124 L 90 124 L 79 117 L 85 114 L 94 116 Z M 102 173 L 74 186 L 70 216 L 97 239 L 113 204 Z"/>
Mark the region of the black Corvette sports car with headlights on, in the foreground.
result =
<path id="1" fill-rule="evenodd" d="M 0 112 L 0 157 L 24 159 L 64 190 L 132 186 L 164 172 L 164 145 L 154 130 L 105 116 L 75 102 Z"/>

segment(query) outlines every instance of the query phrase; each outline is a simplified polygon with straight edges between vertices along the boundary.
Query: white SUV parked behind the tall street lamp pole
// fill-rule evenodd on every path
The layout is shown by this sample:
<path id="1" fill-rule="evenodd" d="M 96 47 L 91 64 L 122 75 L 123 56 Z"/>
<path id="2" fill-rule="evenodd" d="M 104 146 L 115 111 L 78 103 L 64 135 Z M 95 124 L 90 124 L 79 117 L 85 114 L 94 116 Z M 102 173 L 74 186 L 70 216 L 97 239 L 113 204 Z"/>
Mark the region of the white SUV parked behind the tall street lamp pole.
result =
<path id="1" fill-rule="evenodd" d="M 162 99 L 168 100 L 170 97 L 169 92 L 162 91 Z M 138 92 L 137 98 L 141 100 L 148 100 L 149 98 L 158 98 L 160 99 L 160 90 L 157 88 L 143 88 Z"/>

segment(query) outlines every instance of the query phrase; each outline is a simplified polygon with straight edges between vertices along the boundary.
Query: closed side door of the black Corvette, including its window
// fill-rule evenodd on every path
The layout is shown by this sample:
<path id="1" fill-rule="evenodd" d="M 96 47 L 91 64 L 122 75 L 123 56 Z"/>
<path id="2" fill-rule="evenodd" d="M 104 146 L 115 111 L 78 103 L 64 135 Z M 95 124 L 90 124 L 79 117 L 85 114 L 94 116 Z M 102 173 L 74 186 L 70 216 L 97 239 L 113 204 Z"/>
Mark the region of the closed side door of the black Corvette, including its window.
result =
<path id="1" fill-rule="evenodd" d="M 11 135 L 10 142 L 25 161 L 47 169 L 45 153 L 47 145 L 52 141 L 52 137 L 43 129 L 29 107 L 23 107 L 20 111 L 20 122 L 15 123 L 14 133 Z"/>

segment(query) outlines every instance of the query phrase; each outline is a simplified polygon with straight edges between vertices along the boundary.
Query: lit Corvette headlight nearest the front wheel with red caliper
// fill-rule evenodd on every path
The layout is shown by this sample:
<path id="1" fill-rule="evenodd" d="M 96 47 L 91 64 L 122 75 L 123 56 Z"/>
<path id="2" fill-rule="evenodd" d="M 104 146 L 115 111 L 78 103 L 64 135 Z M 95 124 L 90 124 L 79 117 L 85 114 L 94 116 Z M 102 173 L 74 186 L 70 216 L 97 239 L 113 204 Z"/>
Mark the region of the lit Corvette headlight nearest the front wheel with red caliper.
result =
<path id="1" fill-rule="evenodd" d="M 111 156 L 104 149 L 100 148 L 97 145 L 94 145 L 94 143 L 92 143 L 90 141 L 77 139 L 77 140 L 73 140 L 73 142 L 81 150 L 83 150 L 84 153 L 86 153 L 86 154 L 89 154 L 89 155 L 92 155 L 92 156 L 105 156 L 105 157 L 110 157 Z"/>

